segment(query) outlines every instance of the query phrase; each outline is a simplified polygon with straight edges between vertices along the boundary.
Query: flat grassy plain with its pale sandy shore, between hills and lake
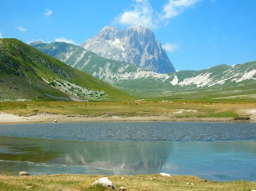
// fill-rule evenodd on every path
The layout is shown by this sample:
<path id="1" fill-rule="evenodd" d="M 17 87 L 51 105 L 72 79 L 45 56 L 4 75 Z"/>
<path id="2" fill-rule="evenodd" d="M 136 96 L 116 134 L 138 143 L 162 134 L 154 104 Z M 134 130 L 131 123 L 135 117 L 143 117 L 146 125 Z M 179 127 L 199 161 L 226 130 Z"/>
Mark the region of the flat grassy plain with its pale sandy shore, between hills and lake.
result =
<path id="1" fill-rule="evenodd" d="M 255 103 L 0 102 L 0 124 L 97 121 L 256 122 L 256 108 Z"/>

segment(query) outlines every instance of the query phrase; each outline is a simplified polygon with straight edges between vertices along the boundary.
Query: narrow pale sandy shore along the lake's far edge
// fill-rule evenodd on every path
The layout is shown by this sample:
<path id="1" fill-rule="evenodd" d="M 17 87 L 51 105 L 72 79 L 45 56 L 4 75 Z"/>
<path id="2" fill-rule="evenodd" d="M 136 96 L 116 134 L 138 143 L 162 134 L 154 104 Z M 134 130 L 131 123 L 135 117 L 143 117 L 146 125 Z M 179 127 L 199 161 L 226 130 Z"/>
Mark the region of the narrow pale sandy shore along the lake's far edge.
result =
<path id="1" fill-rule="evenodd" d="M 237 122 L 234 118 L 175 118 L 171 115 L 160 116 L 97 116 L 88 117 L 85 115 L 59 115 L 49 113 L 37 113 L 31 116 L 18 116 L 13 114 L 0 113 L 0 124 L 19 124 L 19 123 L 66 123 L 66 122 Z M 256 122 L 255 116 L 246 122 Z"/>

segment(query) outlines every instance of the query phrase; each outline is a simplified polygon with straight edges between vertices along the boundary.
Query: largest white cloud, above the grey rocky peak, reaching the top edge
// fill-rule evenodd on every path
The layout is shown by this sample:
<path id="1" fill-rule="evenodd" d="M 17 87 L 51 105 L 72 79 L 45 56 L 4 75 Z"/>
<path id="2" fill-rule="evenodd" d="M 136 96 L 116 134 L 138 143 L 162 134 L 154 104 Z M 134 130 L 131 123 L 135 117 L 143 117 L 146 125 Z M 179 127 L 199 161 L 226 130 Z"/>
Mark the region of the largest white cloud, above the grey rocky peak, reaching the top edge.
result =
<path id="1" fill-rule="evenodd" d="M 181 14 L 185 8 L 199 1 L 201 0 L 168 0 L 161 12 L 156 13 L 148 0 L 133 0 L 132 8 L 115 17 L 114 24 L 157 28 L 162 22 L 168 22 L 168 19 Z"/>

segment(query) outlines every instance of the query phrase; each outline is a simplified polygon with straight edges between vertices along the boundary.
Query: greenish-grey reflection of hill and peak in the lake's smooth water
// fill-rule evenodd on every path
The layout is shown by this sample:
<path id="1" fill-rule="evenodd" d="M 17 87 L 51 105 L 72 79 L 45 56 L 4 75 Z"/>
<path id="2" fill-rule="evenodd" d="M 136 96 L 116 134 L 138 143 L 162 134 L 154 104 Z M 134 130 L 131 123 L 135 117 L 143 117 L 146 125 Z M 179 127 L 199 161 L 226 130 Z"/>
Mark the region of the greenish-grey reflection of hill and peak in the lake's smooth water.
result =
<path id="1" fill-rule="evenodd" d="M 63 170 L 70 170 L 67 168 L 72 166 L 77 166 L 77 168 L 80 166 L 79 172 L 90 174 L 96 172 L 97 174 L 99 172 L 100 174 L 156 173 L 166 163 L 171 149 L 172 146 L 167 142 L 157 141 L 79 141 L 8 137 L 0 139 L 2 163 L 18 161 L 22 168 L 22 165 L 33 166 L 36 165 L 35 163 L 42 163 L 37 164 L 38 166 L 61 165 L 61 167 L 65 167 Z M 94 169 L 93 172 L 89 172 L 88 168 Z M 18 170 L 22 169 L 10 171 Z M 40 170 L 43 171 L 43 169 Z M 53 173 L 55 173 L 54 170 L 50 172 L 50 174 Z M 71 173 L 77 172 L 72 170 Z"/>

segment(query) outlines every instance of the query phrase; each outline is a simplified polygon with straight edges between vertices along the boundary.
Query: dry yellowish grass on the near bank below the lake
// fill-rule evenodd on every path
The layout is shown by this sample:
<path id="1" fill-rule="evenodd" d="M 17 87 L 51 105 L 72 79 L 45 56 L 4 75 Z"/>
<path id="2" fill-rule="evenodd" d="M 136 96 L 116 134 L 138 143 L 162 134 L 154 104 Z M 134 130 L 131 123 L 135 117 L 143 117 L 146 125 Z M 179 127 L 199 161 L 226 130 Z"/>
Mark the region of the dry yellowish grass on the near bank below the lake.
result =
<path id="1" fill-rule="evenodd" d="M 109 190 L 91 187 L 102 178 L 99 175 L 44 175 L 44 176 L 3 176 L 0 175 L 0 190 Z M 115 187 L 125 187 L 127 191 L 162 190 L 253 190 L 256 182 L 233 181 L 216 182 L 202 180 L 194 176 L 136 175 L 108 176 Z M 189 183 L 189 184 L 187 184 Z M 194 185 L 190 185 L 193 183 Z"/>

